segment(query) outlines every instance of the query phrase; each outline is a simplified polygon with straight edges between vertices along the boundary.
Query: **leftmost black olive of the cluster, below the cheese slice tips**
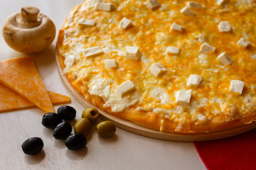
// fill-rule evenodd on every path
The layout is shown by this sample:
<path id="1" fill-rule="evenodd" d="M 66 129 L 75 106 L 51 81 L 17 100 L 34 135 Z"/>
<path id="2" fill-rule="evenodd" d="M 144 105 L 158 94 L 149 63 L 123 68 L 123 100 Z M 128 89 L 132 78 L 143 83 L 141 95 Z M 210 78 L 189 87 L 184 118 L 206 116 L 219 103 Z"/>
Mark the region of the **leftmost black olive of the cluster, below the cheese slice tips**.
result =
<path id="1" fill-rule="evenodd" d="M 46 113 L 43 115 L 42 124 L 46 128 L 54 129 L 61 122 L 62 118 L 60 118 L 60 115 L 56 113 Z"/>

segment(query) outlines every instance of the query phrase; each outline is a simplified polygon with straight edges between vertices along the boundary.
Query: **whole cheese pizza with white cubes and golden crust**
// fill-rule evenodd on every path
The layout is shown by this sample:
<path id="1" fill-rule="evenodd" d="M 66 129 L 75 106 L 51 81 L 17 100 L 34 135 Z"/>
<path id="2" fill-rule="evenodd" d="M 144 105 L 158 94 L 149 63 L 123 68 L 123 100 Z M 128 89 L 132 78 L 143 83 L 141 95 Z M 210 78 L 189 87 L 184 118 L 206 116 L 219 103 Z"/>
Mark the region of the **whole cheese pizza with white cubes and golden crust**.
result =
<path id="1" fill-rule="evenodd" d="M 85 0 L 56 50 L 73 88 L 102 111 L 161 132 L 256 120 L 256 2 Z"/>

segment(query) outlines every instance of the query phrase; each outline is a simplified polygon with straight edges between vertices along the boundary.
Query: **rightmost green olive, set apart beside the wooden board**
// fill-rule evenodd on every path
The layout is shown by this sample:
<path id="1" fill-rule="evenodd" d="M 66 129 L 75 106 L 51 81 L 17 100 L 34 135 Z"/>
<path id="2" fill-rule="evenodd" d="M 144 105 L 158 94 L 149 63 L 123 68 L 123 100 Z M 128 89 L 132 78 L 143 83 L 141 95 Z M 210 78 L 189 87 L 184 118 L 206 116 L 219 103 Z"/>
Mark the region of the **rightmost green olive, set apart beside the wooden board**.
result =
<path id="1" fill-rule="evenodd" d="M 97 124 L 97 134 L 100 135 L 100 137 L 112 137 L 115 131 L 116 127 L 114 123 L 109 120 Z"/>

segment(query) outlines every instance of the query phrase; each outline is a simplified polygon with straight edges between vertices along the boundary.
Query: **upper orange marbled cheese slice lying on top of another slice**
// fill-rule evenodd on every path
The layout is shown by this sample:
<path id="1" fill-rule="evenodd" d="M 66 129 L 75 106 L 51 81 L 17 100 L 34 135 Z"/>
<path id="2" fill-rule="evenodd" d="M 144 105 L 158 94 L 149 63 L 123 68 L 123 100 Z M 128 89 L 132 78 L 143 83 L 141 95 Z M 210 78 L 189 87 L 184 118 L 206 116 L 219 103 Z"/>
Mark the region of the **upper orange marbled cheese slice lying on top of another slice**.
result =
<path id="1" fill-rule="evenodd" d="M 46 87 L 31 57 L 0 62 L 0 83 L 26 98 L 45 113 L 55 112 Z"/>

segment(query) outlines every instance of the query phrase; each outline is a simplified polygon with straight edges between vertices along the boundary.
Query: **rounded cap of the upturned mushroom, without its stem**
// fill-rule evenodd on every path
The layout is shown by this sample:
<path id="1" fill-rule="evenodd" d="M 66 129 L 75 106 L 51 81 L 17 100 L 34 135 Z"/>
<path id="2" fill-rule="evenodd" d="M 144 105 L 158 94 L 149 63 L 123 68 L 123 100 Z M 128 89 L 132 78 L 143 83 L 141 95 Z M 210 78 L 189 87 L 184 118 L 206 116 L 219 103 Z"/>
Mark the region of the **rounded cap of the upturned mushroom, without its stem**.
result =
<path id="1" fill-rule="evenodd" d="M 35 53 L 41 52 L 48 47 L 55 38 L 56 28 L 53 21 L 42 13 L 38 14 L 38 21 L 41 21 L 40 25 L 36 23 L 33 28 L 19 28 L 17 22 L 20 13 L 14 13 L 9 16 L 4 22 L 2 30 L 4 40 L 7 45 L 18 52 Z"/>

